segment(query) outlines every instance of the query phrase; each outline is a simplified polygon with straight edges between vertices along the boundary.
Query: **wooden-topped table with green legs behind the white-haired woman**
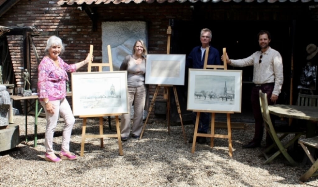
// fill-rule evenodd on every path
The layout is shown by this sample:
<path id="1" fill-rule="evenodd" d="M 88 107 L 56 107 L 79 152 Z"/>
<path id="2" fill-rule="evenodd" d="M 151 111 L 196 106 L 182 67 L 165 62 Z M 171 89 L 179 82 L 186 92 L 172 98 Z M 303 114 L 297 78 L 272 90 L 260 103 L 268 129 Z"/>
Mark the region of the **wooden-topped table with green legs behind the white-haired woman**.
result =
<path id="1" fill-rule="evenodd" d="M 12 100 L 24 100 L 24 114 L 25 114 L 25 142 L 28 142 L 28 100 L 35 100 L 35 117 L 34 117 L 34 147 L 37 146 L 38 141 L 38 114 L 41 112 L 38 111 L 38 96 L 31 95 L 31 96 L 18 96 L 18 95 L 10 95 Z M 29 102 L 31 103 L 31 102 Z M 11 103 L 12 105 L 12 103 Z"/>

